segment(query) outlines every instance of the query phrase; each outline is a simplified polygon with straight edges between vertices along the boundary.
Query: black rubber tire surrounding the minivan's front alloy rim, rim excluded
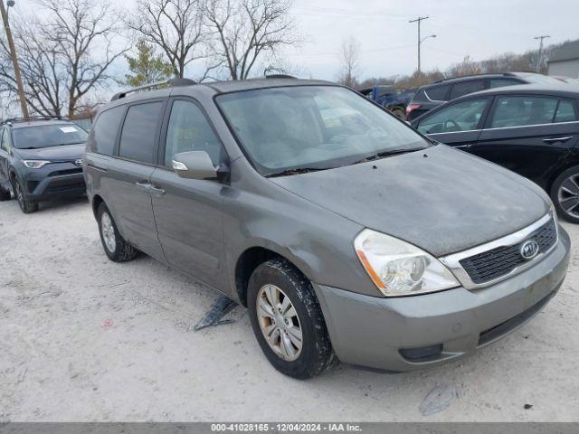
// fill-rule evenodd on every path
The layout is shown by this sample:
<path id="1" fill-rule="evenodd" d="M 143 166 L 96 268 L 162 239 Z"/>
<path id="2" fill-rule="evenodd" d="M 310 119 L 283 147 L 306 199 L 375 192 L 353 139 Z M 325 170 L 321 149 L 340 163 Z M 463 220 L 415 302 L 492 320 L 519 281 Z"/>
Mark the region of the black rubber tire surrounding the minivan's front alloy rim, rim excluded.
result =
<path id="1" fill-rule="evenodd" d="M 301 352 L 296 360 L 283 360 L 268 344 L 258 318 L 258 294 L 266 285 L 280 288 L 295 308 L 302 332 Z M 337 361 L 327 334 L 326 322 L 318 298 L 308 278 L 287 259 L 271 259 L 252 273 L 248 286 L 248 307 L 253 333 L 261 350 L 280 373 L 297 379 L 307 379 L 326 372 Z"/>

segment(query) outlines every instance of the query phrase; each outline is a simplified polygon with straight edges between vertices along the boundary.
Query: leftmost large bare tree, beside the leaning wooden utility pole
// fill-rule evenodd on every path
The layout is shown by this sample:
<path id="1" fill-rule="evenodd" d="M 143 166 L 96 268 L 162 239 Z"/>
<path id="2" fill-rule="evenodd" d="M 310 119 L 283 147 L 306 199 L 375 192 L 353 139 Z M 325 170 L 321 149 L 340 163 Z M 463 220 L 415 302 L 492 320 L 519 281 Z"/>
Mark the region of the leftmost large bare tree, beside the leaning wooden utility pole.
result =
<path id="1" fill-rule="evenodd" d="M 24 17 L 16 44 L 25 97 L 36 113 L 72 117 L 82 99 L 106 86 L 110 65 L 126 50 L 109 0 L 37 0 L 43 18 Z M 96 53 L 99 52 L 99 55 Z M 0 42 L 0 81 L 14 89 L 13 71 Z"/>

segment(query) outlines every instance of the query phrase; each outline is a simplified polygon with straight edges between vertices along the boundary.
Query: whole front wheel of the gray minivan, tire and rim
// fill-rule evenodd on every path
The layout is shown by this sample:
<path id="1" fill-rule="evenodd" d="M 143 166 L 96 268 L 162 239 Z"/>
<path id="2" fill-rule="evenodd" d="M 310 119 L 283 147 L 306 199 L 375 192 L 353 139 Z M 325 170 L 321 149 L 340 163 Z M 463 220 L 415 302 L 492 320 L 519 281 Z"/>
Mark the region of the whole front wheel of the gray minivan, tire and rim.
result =
<path id="1" fill-rule="evenodd" d="M 261 350 L 280 373 L 307 379 L 326 372 L 335 355 L 318 298 L 286 259 L 271 259 L 252 273 L 248 307 Z"/>

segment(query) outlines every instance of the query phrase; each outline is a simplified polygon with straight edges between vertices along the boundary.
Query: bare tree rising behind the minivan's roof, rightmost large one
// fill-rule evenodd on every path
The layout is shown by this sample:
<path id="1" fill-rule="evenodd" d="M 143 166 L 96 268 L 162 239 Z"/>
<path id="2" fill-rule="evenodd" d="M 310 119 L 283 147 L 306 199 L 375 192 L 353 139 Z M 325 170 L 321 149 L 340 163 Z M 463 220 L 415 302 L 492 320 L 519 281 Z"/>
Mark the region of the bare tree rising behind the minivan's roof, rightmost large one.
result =
<path id="1" fill-rule="evenodd" d="M 290 5 L 289 0 L 208 0 L 205 20 L 214 36 L 212 55 L 229 78 L 247 79 L 258 61 L 297 42 Z"/>

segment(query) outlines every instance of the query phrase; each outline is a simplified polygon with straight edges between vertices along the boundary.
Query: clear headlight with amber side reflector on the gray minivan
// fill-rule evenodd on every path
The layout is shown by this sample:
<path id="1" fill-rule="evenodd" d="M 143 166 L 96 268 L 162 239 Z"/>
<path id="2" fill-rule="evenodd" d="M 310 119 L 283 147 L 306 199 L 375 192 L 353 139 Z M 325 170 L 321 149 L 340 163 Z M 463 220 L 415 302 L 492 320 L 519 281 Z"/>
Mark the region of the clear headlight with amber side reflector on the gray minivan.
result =
<path id="1" fill-rule="evenodd" d="M 441 262 L 424 250 L 365 229 L 354 241 L 358 258 L 384 296 L 409 296 L 455 288 L 459 282 Z"/>

